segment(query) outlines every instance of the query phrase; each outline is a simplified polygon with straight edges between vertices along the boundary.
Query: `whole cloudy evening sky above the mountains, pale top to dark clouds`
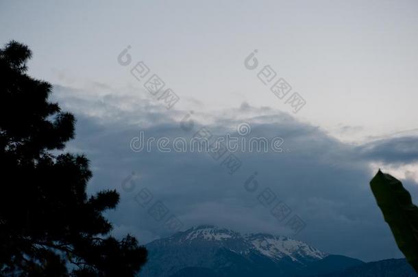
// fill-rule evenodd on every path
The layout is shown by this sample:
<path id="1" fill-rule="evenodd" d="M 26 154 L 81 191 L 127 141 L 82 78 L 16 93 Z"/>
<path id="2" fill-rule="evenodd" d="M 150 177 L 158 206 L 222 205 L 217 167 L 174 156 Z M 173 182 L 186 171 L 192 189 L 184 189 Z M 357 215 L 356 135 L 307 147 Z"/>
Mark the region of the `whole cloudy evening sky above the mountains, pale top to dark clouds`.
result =
<path id="1" fill-rule="evenodd" d="M 369 180 L 382 168 L 418 198 L 417 14 L 416 1 L 0 1 L 0 44 L 27 44 L 29 75 L 52 83 L 51 99 L 77 117 L 67 150 L 90 159 L 89 192 L 121 192 L 108 213 L 114 235 L 170 235 L 136 202 L 143 189 L 184 228 L 288 235 L 258 201 L 269 188 L 306 223 L 297 239 L 376 261 L 402 255 Z M 251 53 L 255 69 L 245 66 Z M 132 75 L 138 62 L 177 94 L 173 107 Z M 265 66 L 302 96 L 299 111 L 260 80 Z M 130 148 L 140 131 L 239 136 L 243 123 L 251 136 L 282 137 L 284 152 L 234 153 L 242 165 L 229 174 L 206 153 Z"/>

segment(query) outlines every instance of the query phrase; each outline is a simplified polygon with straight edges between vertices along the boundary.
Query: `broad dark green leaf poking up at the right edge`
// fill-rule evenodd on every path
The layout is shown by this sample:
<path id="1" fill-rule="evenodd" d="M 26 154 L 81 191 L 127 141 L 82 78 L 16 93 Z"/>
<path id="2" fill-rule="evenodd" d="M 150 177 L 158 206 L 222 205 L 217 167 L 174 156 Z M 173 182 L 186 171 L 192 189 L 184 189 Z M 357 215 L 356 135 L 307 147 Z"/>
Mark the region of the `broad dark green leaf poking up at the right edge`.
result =
<path id="1" fill-rule="evenodd" d="M 418 207 L 399 180 L 380 170 L 370 187 L 397 246 L 418 273 Z"/>

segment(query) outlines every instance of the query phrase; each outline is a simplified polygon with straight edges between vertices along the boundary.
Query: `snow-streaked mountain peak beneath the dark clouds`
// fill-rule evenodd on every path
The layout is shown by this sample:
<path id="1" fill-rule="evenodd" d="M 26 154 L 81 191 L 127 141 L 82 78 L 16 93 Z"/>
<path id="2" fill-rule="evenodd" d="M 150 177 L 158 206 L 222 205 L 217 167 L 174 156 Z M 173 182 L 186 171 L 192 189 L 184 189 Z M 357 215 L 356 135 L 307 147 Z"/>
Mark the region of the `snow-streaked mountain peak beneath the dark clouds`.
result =
<path id="1" fill-rule="evenodd" d="M 141 277 L 296 277 L 363 264 L 288 237 L 241 235 L 210 225 L 152 241 L 146 247 L 149 259 Z"/>

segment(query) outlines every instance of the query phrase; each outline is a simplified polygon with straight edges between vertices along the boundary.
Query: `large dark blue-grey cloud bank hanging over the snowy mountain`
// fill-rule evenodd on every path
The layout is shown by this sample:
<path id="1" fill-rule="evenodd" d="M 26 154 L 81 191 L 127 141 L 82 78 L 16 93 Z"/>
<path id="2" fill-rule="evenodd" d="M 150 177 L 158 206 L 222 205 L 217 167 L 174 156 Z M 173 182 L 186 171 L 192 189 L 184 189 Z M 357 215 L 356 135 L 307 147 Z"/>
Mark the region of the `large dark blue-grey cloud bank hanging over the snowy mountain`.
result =
<path id="1" fill-rule="evenodd" d="M 147 95 L 84 93 L 59 87 L 55 97 L 77 116 L 77 137 L 69 150 L 88 155 L 94 174 L 90 192 L 113 188 L 121 192 L 118 209 L 108 213 L 116 235 L 133 233 L 146 243 L 170 234 L 135 201 L 143 188 L 184 228 L 216 224 L 241 232 L 289 235 L 286 221 L 278 222 L 257 199 L 269 188 L 276 200 L 291 208 L 291 215 L 306 222 L 297 239 L 325 252 L 367 261 L 400 256 L 369 189 L 373 175 L 369 163 L 416 161 L 413 137 L 351 146 L 288 114 L 248 103 L 213 116 L 196 111 L 193 129 L 185 131 L 180 121 L 186 111 L 167 111 Z M 151 153 L 134 153 L 130 149 L 130 140 L 139 131 L 147 137 L 187 139 L 203 122 L 214 135 L 237 135 L 238 124 L 247 122 L 251 136 L 282 137 L 284 152 L 234 153 L 242 166 L 230 175 L 208 153 L 158 153 L 155 148 Z M 121 183 L 132 172 L 135 187 L 126 192 Z M 258 172 L 259 187 L 250 193 L 244 183 L 254 172 Z"/>

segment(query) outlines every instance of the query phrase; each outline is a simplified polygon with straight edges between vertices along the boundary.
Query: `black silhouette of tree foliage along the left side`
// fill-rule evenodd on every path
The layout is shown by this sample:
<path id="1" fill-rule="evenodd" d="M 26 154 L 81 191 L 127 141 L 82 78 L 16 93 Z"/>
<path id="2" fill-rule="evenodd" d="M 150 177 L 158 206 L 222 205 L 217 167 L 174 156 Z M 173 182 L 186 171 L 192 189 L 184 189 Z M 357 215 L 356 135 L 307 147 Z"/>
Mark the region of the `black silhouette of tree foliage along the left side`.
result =
<path id="1" fill-rule="evenodd" d="M 134 276 L 147 250 L 109 235 L 102 213 L 119 194 L 88 196 L 88 159 L 59 151 L 75 118 L 26 74 L 31 55 L 15 41 L 0 49 L 0 275 Z"/>

